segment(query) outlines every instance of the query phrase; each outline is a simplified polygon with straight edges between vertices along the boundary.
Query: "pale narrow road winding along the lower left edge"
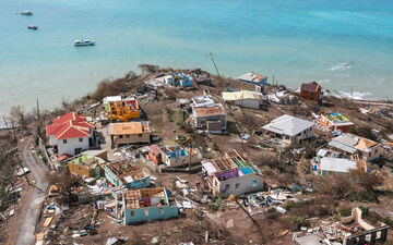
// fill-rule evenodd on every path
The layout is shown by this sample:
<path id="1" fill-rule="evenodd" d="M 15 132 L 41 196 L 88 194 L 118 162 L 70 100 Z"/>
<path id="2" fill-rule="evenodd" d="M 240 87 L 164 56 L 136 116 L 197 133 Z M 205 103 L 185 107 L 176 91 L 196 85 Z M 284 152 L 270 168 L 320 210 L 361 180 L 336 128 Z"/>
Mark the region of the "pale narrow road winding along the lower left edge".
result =
<path id="1" fill-rule="evenodd" d="M 28 206 L 25 209 L 23 222 L 19 230 L 17 240 L 15 243 L 16 245 L 34 244 L 36 221 L 39 216 L 41 204 L 45 199 L 48 187 L 48 183 L 45 181 L 45 172 L 47 169 L 40 162 L 38 162 L 35 158 L 35 155 L 28 150 L 32 144 L 33 137 L 29 137 L 21 150 L 21 160 L 23 161 L 24 167 L 31 170 L 35 180 L 35 185 L 33 187 L 31 199 L 27 200 Z"/>

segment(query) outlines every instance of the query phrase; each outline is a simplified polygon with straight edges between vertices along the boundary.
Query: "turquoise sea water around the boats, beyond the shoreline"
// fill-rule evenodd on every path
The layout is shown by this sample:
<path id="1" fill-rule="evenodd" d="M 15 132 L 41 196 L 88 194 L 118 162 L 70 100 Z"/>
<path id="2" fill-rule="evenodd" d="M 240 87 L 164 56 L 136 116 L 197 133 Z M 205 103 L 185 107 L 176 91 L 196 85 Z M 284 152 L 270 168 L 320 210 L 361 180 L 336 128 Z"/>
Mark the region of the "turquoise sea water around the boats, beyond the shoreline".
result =
<path id="1" fill-rule="evenodd" d="M 97 42 L 75 48 L 79 38 Z M 58 106 L 139 63 L 213 73 L 209 52 L 225 76 L 392 99 L 393 1 L 0 0 L 0 114 L 36 98 Z"/>

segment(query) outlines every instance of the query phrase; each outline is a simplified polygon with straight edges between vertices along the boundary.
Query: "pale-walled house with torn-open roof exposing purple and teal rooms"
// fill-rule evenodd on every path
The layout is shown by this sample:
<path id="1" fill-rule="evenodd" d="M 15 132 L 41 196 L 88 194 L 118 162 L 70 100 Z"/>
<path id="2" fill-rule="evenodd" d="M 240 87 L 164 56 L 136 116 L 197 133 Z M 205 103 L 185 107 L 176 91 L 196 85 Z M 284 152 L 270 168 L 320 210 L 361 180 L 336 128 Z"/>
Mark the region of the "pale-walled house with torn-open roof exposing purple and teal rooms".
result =
<path id="1" fill-rule="evenodd" d="M 242 195 L 263 188 L 260 170 L 242 154 L 231 150 L 225 157 L 202 162 L 204 186 L 212 195 Z"/>

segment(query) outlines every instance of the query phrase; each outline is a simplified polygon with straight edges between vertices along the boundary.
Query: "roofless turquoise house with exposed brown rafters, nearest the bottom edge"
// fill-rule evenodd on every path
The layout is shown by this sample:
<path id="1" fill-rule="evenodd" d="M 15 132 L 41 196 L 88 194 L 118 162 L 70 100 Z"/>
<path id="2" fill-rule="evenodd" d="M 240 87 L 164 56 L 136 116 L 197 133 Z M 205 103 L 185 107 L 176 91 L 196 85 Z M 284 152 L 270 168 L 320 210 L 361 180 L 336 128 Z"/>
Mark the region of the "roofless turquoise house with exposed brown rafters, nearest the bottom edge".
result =
<path id="1" fill-rule="evenodd" d="M 175 201 L 164 187 L 126 189 L 121 197 L 123 224 L 163 220 L 179 216 Z"/>

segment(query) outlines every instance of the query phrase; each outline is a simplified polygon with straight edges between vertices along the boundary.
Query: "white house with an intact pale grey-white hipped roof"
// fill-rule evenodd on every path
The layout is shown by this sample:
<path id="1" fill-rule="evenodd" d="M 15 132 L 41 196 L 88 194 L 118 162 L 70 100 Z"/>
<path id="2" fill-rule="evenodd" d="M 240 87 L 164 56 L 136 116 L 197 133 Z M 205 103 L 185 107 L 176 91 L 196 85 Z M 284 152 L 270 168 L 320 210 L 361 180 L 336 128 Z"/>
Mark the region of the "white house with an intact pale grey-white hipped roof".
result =
<path id="1" fill-rule="evenodd" d="M 284 114 L 262 127 L 264 134 L 285 144 L 300 143 L 314 136 L 314 123 Z"/>

